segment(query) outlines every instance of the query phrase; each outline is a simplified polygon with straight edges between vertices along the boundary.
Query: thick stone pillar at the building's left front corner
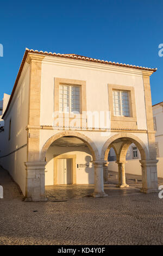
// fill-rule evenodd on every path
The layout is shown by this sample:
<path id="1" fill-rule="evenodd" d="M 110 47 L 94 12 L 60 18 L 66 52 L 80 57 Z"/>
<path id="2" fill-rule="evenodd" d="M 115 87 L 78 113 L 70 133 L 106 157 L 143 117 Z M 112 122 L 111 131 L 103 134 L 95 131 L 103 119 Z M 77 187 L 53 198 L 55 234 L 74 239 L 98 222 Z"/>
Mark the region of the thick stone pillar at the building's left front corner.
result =
<path id="1" fill-rule="evenodd" d="M 26 198 L 25 201 L 46 201 L 45 165 L 46 162 L 25 162 Z"/>

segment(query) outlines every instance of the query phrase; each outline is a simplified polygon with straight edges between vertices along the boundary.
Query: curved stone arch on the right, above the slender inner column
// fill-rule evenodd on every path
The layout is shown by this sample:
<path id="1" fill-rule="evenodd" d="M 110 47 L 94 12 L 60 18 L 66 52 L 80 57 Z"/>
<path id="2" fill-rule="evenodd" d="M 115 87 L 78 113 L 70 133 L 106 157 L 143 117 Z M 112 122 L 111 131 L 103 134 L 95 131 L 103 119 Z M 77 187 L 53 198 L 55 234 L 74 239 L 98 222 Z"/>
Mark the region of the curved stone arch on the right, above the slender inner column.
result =
<path id="1" fill-rule="evenodd" d="M 103 148 L 102 148 L 102 151 L 101 151 L 101 160 L 105 160 L 107 159 L 108 157 L 108 153 L 109 153 L 109 147 L 110 147 L 110 144 L 114 143 L 114 141 L 116 141 L 116 139 L 118 138 L 127 138 L 128 141 L 130 142 L 129 144 L 131 143 L 134 143 L 137 148 L 139 149 L 140 151 L 140 154 L 141 154 L 141 160 L 147 160 L 148 159 L 148 150 L 146 148 L 146 145 L 141 141 L 140 138 L 132 135 L 131 133 L 118 133 L 112 137 L 110 137 L 103 145 Z M 123 147 L 125 144 L 128 144 L 127 142 L 123 144 Z M 125 146 L 123 148 L 123 150 L 126 148 L 126 147 L 129 147 L 129 145 Z M 108 150 L 109 149 L 109 150 Z M 120 149 L 122 150 L 122 148 Z M 127 149 L 125 149 L 127 150 Z M 118 153 L 120 154 L 120 152 Z"/>

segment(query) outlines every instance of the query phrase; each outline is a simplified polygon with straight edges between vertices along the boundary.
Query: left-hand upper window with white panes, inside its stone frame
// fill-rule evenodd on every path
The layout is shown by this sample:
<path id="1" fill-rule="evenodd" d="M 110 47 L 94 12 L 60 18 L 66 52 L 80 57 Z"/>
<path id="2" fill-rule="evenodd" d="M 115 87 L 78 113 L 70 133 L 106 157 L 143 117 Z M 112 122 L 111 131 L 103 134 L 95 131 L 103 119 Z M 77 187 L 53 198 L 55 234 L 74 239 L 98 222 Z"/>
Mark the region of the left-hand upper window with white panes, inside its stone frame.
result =
<path id="1" fill-rule="evenodd" d="M 59 86 L 59 111 L 80 113 L 80 87 L 62 84 Z"/>

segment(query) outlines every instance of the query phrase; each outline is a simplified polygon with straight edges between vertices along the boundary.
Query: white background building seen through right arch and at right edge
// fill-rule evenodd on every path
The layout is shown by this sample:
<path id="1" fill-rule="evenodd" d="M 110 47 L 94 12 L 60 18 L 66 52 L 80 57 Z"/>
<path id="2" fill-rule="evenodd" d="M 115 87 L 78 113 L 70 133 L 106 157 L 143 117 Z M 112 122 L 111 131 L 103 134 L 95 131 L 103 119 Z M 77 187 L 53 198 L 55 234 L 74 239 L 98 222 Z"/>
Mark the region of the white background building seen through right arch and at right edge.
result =
<path id="1" fill-rule="evenodd" d="M 156 158 L 158 162 L 158 177 L 163 178 L 163 102 L 153 105 L 153 121 L 155 130 L 155 148 L 156 148 Z M 141 167 L 139 160 L 141 159 L 141 154 L 139 149 L 134 143 L 132 143 L 126 154 L 126 173 L 141 175 Z M 116 154 L 113 148 L 109 151 L 108 156 L 109 170 L 114 170 L 117 172 L 116 164 Z"/>

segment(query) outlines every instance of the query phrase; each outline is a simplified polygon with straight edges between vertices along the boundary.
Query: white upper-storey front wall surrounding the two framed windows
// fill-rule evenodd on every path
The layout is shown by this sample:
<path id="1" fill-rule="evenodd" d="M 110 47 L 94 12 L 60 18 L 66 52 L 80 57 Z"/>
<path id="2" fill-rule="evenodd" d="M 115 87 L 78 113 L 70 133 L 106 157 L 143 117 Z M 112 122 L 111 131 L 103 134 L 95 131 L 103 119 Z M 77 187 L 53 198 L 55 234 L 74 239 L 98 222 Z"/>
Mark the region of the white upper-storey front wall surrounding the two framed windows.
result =
<path id="1" fill-rule="evenodd" d="M 137 128 L 147 129 L 142 71 L 49 56 L 42 63 L 40 125 L 53 124 L 55 77 L 86 81 L 87 111 L 92 112 L 109 111 L 108 83 L 134 87 Z"/>

